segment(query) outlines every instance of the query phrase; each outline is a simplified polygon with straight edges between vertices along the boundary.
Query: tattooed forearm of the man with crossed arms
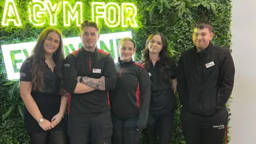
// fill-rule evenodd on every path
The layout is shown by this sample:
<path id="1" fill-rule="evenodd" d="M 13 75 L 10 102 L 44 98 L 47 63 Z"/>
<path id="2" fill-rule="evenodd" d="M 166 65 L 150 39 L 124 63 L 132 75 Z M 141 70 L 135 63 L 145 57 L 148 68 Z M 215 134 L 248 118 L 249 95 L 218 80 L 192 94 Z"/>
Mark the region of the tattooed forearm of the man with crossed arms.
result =
<path id="1" fill-rule="evenodd" d="M 95 79 L 95 78 L 85 77 L 84 84 L 86 84 L 96 90 L 101 90 L 101 91 L 106 90 L 105 89 L 105 78 Z"/>

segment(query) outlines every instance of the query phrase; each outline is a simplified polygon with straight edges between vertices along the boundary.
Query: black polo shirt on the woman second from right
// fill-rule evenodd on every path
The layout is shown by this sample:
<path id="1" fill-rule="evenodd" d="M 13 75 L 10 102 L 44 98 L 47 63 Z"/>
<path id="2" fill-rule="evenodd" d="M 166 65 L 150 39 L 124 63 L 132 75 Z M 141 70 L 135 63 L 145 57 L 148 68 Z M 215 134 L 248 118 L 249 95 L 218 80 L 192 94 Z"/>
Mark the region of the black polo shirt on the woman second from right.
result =
<path id="1" fill-rule="evenodd" d="M 165 79 L 161 76 L 159 66 L 161 66 L 162 60 L 158 60 L 153 66 L 153 62 L 150 60 L 150 66 L 148 74 L 151 81 L 151 99 L 149 111 L 153 114 L 165 114 L 169 113 L 176 105 L 175 95 L 172 89 L 171 79 L 176 78 L 176 66 L 173 60 L 171 60 L 170 69 L 171 73 L 169 78 Z"/>

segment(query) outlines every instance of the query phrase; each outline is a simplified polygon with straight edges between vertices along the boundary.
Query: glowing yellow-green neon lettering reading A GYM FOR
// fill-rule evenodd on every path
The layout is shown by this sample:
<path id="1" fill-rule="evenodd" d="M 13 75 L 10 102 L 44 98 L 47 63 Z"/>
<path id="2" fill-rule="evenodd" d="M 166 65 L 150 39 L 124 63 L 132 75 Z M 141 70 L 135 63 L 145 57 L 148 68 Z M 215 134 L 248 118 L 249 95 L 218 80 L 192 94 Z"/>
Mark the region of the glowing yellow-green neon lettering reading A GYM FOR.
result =
<path id="1" fill-rule="evenodd" d="M 99 19 L 104 20 L 108 27 L 138 27 L 135 20 L 137 16 L 137 7 L 132 3 L 109 2 L 91 2 L 92 21 L 99 24 Z M 79 27 L 83 22 L 83 3 L 75 2 L 70 4 L 68 1 L 62 1 L 52 4 L 51 1 L 33 0 L 28 5 L 29 22 L 34 26 L 43 26 L 46 23 L 45 18 L 49 18 L 50 26 L 57 26 L 57 15 L 62 10 L 63 26 L 69 27 L 71 21 Z M 2 19 L 2 26 L 9 26 L 13 22 L 14 26 L 22 26 L 19 12 L 14 0 L 6 0 Z"/>

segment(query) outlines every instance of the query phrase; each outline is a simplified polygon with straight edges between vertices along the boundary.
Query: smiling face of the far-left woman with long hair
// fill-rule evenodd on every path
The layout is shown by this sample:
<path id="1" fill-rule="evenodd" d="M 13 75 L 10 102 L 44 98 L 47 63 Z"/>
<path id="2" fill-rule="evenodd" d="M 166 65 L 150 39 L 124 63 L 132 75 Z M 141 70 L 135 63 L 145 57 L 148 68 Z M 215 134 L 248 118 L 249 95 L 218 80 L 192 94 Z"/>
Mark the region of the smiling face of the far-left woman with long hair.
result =
<path id="1" fill-rule="evenodd" d="M 58 50 L 60 44 L 60 37 L 59 35 L 52 31 L 47 35 L 44 40 L 44 51 L 47 54 L 53 54 L 55 51 Z"/>

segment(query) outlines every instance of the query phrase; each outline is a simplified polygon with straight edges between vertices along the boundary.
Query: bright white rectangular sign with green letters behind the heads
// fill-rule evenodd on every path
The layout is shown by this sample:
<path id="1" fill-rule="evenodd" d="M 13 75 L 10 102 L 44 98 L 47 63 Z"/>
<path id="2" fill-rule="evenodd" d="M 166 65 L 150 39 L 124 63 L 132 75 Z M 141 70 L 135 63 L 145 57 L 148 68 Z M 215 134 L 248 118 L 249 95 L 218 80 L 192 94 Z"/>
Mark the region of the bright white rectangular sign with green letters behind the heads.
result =
<path id="1" fill-rule="evenodd" d="M 117 44 L 124 37 L 132 38 L 132 32 L 125 31 L 121 33 L 101 34 L 97 45 L 100 49 L 110 53 L 115 62 L 117 62 L 117 58 L 119 57 Z M 8 79 L 19 79 L 20 66 L 29 57 L 35 44 L 36 42 L 1 45 Z M 65 55 L 77 50 L 82 45 L 80 37 L 64 38 L 63 44 L 65 45 Z"/>

